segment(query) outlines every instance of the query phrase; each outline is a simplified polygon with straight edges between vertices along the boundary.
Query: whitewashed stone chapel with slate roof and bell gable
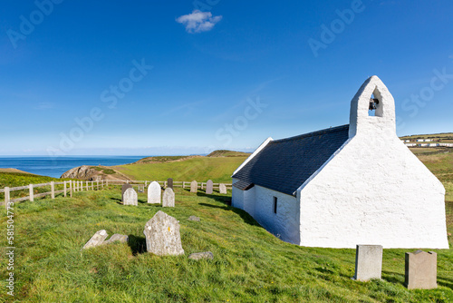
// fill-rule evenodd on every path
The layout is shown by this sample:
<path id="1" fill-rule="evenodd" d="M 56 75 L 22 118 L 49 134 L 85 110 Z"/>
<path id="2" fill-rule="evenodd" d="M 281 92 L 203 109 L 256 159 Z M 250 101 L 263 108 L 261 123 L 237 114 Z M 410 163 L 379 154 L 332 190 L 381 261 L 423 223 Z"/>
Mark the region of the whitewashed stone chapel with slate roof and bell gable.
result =
<path id="1" fill-rule="evenodd" d="M 372 76 L 349 125 L 265 140 L 233 173 L 232 204 L 302 246 L 448 249 L 445 189 L 395 125 L 393 97 Z"/>

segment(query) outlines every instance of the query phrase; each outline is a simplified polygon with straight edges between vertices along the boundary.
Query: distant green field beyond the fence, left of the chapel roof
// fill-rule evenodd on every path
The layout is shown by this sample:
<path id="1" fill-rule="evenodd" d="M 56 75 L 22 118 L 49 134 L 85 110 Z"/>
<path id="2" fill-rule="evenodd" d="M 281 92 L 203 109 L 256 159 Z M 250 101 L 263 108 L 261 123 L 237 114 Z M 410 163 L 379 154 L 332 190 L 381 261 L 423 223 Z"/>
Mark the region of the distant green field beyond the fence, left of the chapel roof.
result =
<path id="1" fill-rule="evenodd" d="M 162 161 L 114 166 L 132 180 L 207 181 L 231 183 L 231 174 L 247 156 L 196 157 L 183 161 Z"/>

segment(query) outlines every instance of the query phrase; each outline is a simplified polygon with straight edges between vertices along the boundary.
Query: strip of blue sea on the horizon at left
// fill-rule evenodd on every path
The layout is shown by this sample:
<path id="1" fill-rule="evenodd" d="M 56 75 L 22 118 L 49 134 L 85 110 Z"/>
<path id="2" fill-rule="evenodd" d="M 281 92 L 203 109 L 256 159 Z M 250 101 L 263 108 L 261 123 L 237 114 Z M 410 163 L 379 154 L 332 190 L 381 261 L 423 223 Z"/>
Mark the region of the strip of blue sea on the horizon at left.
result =
<path id="1" fill-rule="evenodd" d="M 60 178 L 66 171 L 81 165 L 104 165 L 113 166 L 128 164 L 145 156 L 2 156 L 0 157 L 0 168 L 12 168 L 20 171 L 27 171 L 38 175 Z"/>

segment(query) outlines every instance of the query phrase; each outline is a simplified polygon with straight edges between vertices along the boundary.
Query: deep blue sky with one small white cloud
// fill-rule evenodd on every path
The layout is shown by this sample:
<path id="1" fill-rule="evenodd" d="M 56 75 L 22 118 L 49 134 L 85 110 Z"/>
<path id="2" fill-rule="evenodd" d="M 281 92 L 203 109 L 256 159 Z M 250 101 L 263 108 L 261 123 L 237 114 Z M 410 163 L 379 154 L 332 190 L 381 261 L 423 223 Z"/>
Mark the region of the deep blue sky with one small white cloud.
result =
<path id="1" fill-rule="evenodd" d="M 451 11 L 447 0 L 7 1 L 0 155 L 253 150 L 348 123 L 373 74 L 399 135 L 452 132 Z"/>

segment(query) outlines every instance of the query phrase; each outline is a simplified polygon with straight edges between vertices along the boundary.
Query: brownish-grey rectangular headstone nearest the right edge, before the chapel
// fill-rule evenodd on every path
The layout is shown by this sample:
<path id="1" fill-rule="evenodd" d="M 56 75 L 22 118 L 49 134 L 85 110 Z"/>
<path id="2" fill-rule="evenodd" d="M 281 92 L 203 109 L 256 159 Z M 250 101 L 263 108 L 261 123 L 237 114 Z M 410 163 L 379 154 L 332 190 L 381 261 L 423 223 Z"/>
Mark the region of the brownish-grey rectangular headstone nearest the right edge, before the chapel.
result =
<path id="1" fill-rule="evenodd" d="M 408 289 L 438 287 L 438 254 L 433 251 L 406 252 L 406 279 Z"/>

